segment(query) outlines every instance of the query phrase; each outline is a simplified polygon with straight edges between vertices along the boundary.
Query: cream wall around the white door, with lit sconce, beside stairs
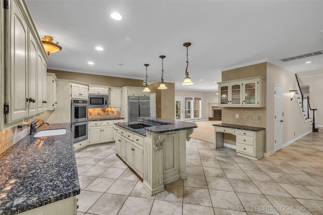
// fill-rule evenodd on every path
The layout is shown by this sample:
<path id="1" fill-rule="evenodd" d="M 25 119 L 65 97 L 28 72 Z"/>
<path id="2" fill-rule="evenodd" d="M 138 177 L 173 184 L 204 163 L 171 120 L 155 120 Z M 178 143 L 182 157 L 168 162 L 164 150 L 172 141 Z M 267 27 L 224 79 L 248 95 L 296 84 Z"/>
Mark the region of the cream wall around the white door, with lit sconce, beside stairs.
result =
<path id="1" fill-rule="evenodd" d="M 275 149 L 274 133 L 274 85 L 282 86 L 283 145 L 291 143 L 311 130 L 309 122 L 304 122 L 296 99 L 291 101 L 289 91 L 295 88 L 295 74 L 267 63 L 267 106 L 266 106 L 266 152 Z"/>

